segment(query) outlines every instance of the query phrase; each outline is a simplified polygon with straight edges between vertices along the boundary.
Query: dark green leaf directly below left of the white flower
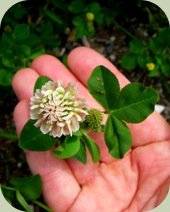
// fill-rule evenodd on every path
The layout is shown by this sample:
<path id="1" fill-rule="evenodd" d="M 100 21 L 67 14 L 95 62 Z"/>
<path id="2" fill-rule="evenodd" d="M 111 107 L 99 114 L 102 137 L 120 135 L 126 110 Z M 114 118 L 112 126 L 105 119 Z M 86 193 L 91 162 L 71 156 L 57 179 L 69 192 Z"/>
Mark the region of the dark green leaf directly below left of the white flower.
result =
<path id="1" fill-rule="evenodd" d="M 47 151 L 51 149 L 56 139 L 48 134 L 43 134 L 39 128 L 34 126 L 35 121 L 29 120 L 24 126 L 19 146 L 31 151 Z"/>

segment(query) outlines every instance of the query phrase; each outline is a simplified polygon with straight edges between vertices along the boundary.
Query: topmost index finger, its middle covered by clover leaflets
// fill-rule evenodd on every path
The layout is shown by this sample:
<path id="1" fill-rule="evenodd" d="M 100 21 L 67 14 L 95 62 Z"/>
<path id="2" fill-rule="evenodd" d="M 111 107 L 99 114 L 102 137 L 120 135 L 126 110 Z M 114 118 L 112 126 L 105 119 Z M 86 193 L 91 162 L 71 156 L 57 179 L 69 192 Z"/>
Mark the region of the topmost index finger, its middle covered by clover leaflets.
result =
<path id="1" fill-rule="evenodd" d="M 68 66 L 73 74 L 84 84 L 92 73 L 92 70 L 98 66 L 104 65 L 109 68 L 118 78 L 121 87 L 129 81 L 113 66 L 106 58 L 96 51 L 78 47 L 68 55 Z M 150 115 L 144 122 L 135 125 L 129 125 L 133 136 L 133 146 L 144 145 L 152 141 L 161 141 L 170 139 L 170 126 L 156 112 Z"/>

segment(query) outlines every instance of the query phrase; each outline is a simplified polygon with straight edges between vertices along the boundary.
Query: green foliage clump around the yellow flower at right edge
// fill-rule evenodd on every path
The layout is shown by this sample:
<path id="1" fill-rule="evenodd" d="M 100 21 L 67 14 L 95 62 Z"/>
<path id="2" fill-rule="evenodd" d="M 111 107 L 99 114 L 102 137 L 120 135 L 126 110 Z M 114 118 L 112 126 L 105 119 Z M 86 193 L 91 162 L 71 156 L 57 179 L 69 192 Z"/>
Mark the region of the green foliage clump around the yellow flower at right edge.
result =
<path id="1" fill-rule="evenodd" d="M 156 36 L 145 41 L 134 38 L 130 41 L 129 50 L 121 58 L 124 70 L 141 69 L 149 77 L 159 77 L 163 83 L 170 77 L 170 28 L 160 29 Z M 148 64 L 154 64 L 149 69 Z M 169 85 L 170 87 L 170 85 Z"/>

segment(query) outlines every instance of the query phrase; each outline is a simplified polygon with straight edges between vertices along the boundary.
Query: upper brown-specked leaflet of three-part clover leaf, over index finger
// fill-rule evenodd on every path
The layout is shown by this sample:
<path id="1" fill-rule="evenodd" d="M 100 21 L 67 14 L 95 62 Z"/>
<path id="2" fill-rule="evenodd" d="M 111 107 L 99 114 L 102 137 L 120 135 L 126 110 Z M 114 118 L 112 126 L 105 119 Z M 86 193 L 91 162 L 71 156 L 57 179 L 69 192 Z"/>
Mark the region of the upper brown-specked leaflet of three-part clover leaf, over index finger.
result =
<path id="1" fill-rule="evenodd" d="M 120 88 L 117 78 L 104 66 L 98 66 L 88 80 L 88 90 L 107 110 L 114 108 Z"/>

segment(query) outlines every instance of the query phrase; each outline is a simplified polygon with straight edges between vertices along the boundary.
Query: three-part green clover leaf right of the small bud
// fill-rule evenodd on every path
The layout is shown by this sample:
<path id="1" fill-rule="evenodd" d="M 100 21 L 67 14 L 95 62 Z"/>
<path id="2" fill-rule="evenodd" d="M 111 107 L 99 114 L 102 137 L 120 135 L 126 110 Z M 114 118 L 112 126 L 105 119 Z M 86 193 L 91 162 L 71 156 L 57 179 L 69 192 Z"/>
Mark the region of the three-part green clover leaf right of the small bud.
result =
<path id="1" fill-rule="evenodd" d="M 115 158 L 122 158 L 132 143 L 130 131 L 122 120 L 130 123 L 143 121 L 154 111 L 158 100 L 155 90 L 139 83 L 131 83 L 121 91 L 119 87 L 117 78 L 104 66 L 96 67 L 88 80 L 90 93 L 108 113 L 104 135 L 109 152 Z M 102 97 L 96 92 L 98 89 L 102 89 Z"/>

